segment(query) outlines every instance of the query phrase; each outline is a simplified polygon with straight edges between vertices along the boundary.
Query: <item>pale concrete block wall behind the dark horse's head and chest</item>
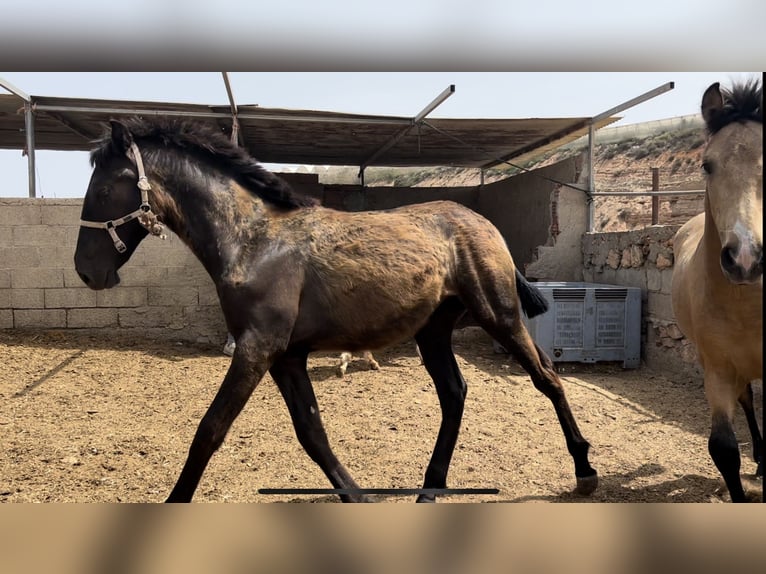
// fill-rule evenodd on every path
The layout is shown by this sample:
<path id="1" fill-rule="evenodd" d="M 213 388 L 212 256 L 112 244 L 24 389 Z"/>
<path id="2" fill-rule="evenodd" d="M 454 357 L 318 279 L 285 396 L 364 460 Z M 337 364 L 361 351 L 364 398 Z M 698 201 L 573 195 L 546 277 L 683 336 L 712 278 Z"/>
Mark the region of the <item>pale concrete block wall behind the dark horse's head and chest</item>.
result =
<path id="1" fill-rule="evenodd" d="M 74 270 L 80 199 L 0 199 L 0 328 L 122 329 L 223 342 L 212 280 L 178 237 L 147 237 L 115 289 Z M 169 333 L 169 334 L 168 334 Z"/>

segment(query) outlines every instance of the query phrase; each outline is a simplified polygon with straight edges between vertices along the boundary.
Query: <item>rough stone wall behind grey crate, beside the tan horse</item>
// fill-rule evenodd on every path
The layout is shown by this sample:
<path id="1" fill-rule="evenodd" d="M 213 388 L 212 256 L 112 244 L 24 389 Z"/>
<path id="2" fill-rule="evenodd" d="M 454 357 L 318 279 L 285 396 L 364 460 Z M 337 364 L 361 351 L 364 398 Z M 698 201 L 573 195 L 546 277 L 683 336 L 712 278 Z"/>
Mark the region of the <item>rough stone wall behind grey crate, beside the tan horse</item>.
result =
<path id="1" fill-rule="evenodd" d="M 699 378 L 691 342 L 673 315 L 673 237 L 679 225 L 655 225 L 615 233 L 586 233 L 582 239 L 583 280 L 641 288 L 642 355 L 652 367 Z"/>

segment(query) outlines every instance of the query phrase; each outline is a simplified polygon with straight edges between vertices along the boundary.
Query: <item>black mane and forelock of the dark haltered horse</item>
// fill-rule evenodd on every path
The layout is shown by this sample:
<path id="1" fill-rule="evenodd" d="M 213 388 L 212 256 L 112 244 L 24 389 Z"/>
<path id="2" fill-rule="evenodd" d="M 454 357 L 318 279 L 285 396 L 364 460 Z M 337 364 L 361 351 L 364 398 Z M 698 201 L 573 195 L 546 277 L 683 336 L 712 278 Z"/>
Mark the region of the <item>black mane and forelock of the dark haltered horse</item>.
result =
<path id="1" fill-rule="evenodd" d="M 251 193 L 276 206 L 293 209 L 317 204 L 315 199 L 294 191 L 287 182 L 261 166 L 247 151 L 231 143 L 226 135 L 207 124 L 174 118 L 141 117 L 121 120 L 120 123 L 130 131 L 139 149 L 143 142 L 161 148 L 174 147 L 193 154 L 214 163 Z M 110 131 L 95 143 L 97 147 L 90 154 L 90 163 L 94 167 L 105 165 L 116 155 L 124 153 L 115 149 Z"/>

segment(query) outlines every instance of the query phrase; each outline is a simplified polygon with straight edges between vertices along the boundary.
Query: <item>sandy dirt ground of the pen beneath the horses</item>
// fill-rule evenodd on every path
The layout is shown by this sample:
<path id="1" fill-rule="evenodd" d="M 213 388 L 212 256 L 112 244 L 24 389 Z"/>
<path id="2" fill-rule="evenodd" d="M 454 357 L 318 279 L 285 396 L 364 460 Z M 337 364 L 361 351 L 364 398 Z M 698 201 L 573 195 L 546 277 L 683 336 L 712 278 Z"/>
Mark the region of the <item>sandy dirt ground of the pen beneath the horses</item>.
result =
<path id="1" fill-rule="evenodd" d="M 223 341 L 221 342 L 223 343 Z M 496 488 L 445 502 L 721 502 L 707 453 L 709 417 L 699 381 L 620 364 L 559 365 L 600 486 L 573 493 L 574 469 L 550 402 L 478 329 L 456 333 L 468 383 L 448 485 Z M 440 411 L 411 343 L 376 354 L 380 371 L 312 356 L 309 374 L 330 443 L 360 486 L 419 488 Z M 230 359 L 219 346 L 172 339 L 56 331 L 0 332 L 0 501 L 160 502 L 172 489 L 197 424 Z M 761 387 L 756 403 L 761 404 Z M 762 415 L 759 410 L 759 420 Z M 742 473 L 755 494 L 755 463 L 741 413 Z M 336 502 L 328 495 L 259 489 L 330 488 L 295 438 L 267 376 L 221 449 L 197 502 Z M 412 496 L 379 496 L 410 502 Z"/>

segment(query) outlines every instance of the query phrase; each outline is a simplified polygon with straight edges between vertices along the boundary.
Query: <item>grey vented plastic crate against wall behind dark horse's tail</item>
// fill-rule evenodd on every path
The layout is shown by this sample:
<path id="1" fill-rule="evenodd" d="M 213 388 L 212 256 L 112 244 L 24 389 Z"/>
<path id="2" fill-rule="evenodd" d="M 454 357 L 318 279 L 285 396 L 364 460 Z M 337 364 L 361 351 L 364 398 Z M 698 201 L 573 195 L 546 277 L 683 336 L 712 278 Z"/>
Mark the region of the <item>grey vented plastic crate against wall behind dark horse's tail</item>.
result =
<path id="1" fill-rule="evenodd" d="M 538 282 L 550 308 L 524 318 L 534 341 L 554 362 L 641 362 L 641 289 L 582 282 Z M 496 350 L 502 347 L 495 343 Z"/>

